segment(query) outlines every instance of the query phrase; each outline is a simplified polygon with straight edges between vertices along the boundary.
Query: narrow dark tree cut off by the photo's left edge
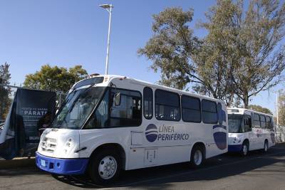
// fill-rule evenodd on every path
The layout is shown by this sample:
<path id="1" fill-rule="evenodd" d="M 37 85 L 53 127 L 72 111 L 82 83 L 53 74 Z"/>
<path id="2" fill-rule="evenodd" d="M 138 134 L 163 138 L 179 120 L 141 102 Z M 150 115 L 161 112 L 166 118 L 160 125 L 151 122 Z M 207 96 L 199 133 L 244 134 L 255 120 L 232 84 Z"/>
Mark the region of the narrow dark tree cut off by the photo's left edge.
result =
<path id="1" fill-rule="evenodd" d="M 10 65 L 8 63 L 0 65 L 0 120 L 4 120 L 6 118 L 11 104 L 11 99 L 9 97 L 11 94 L 11 88 L 5 86 L 9 85 L 9 80 L 11 79 L 9 66 Z"/>

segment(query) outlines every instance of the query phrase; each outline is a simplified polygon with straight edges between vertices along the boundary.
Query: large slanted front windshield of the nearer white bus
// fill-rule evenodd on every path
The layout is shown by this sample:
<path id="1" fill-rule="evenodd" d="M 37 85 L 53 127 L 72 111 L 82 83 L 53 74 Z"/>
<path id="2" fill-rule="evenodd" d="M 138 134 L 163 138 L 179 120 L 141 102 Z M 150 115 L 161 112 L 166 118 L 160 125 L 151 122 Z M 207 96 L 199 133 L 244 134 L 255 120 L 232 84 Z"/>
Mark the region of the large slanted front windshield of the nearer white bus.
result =
<path id="1" fill-rule="evenodd" d="M 58 111 L 52 127 L 80 130 L 88 119 L 105 87 L 92 87 L 74 90 L 68 95 L 66 103 Z"/>

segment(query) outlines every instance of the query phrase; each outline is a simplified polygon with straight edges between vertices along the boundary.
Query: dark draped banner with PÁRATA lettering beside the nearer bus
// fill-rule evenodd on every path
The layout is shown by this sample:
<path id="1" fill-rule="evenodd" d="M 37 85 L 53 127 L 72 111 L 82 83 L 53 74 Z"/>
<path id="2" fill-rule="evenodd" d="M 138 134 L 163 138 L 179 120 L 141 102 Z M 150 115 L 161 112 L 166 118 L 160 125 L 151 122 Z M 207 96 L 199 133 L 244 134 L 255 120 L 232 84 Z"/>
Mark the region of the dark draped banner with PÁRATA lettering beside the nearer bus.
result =
<path id="1" fill-rule="evenodd" d="M 41 132 L 51 124 L 56 114 L 56 93 L 27 90 L 16 91 L 9 115 L 0 137 L 0 157 L 11 159 L 18 155 L 33 154 Z"/>

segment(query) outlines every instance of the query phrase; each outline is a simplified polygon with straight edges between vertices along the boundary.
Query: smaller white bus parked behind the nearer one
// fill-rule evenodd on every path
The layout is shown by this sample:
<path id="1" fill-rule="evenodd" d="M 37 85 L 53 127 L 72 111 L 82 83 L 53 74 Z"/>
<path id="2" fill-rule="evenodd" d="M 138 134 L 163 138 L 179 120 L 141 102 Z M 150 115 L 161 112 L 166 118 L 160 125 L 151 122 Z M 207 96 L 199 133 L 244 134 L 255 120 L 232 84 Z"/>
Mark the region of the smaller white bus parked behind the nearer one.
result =
<path id="1" fill-rule="evenodd" d="M 240 152 L 246 156 L 249 151 L 275 145 L 274 121 L 272 115 L 229 107 L 229 152 Z"/>

